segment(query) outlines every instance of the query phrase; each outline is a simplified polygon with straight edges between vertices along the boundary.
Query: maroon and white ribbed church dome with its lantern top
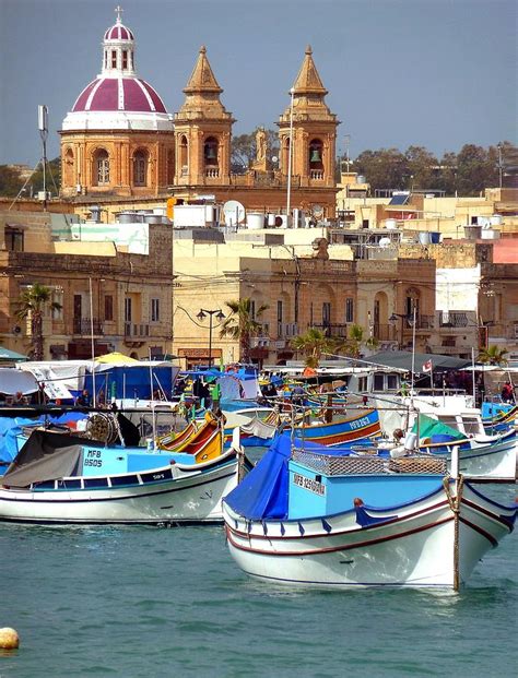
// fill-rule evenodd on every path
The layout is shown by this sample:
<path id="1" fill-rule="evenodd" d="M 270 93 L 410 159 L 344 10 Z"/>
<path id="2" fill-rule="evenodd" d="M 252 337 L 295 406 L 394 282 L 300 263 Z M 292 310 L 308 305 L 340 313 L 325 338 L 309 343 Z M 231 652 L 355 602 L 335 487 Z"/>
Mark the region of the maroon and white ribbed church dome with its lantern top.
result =
<path id="1" fill-rule="evenodd" d="M 102 73 L 81 92 L 63 130 L 169 130 L 173 116 L 156 91 L 134 70 L 134 36 L 120 22 L 104 34 Z"/>

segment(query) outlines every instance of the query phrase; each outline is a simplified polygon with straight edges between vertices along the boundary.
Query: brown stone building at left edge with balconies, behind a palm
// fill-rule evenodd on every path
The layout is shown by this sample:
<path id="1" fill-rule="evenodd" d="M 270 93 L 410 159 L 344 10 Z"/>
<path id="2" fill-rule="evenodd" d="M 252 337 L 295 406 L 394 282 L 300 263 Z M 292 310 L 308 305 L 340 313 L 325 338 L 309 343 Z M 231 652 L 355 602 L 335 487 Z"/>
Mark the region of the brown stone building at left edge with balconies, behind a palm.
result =
<path id="1" fill-rule="evenodd" d="M 148 254 L 71 240 L 70 228 L 62 215 L 0 213 L 0 343 L 30 349 L 31 323 L 16 319 L 16 300 L 39 283 L 62 307 L 44 309 L 45 359 L 91 358 L 92 342 L 96 355 L 170 353 L 170 226 L 149 225 Z"/>

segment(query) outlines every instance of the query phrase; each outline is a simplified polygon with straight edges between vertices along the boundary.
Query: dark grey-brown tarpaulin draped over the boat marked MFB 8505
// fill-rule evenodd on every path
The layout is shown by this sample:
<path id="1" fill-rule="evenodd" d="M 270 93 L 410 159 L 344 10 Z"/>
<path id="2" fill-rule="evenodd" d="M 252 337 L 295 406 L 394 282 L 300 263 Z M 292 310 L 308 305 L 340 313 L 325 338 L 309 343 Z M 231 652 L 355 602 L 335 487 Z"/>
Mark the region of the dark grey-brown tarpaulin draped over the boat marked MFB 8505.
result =
<path id="1" fill-rule="evenodd" d="M 82 462 L 83 444 L 84 439 L 75 436 L 33 431 L 5 472 L 2 484 L 27 487 L 31 483 L 71 476 Z"/>

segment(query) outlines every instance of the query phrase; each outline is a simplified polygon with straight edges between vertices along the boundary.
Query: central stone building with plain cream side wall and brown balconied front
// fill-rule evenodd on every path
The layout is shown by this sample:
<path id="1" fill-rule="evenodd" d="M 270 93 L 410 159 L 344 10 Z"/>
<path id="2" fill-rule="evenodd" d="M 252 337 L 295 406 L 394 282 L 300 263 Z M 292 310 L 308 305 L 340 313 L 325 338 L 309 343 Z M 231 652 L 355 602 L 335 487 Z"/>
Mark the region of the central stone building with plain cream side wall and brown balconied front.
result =
<path id="1" fill-rule="evenodd" d="M 210 241 L 198 230 L 175 239 L 174 353 L 184 366 L 207 364 L 209 357 L 239 359 L 238 343 L 220 337 L 216 317 L 200 322 L 197 314 L 204 308 L 226 316 L 226 301 L 243 298 L 250 298 L 252 309 L 268 306 L 258 318 L 262 332 L 252 342 L 251 357 L 259 362 L 292 358 L 291 340 L 310 326 L 345 338 L 358 324 L 366 338 L 375 336 L 385 348 L 408 347 L 413 330 L 407 318 L 413 309 L 416 344 L 424 348 L 433 335 L 434 260 L 358 261 L 350 248 L 328 246 L 326 229 L 314 229 L 313 242 L 307 235 L 244 233 Z M 398 322 L 390 320 L 393 313 Z"/>

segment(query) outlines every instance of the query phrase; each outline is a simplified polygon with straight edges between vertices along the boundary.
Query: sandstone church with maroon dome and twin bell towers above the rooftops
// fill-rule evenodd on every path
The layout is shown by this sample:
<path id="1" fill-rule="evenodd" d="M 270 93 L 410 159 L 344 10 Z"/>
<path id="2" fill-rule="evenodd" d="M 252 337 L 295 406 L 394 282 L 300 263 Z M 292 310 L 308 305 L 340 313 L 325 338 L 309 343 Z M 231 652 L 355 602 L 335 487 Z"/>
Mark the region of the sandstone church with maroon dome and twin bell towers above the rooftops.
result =
<path id="1" fill-rule="evenodd" d="M 170 115 L 157 92 L 136 70 L 133 32 L 117 21 L 103 39 L 101 73 L 81 92 L 63 120 L 61 194 L 74 202 L 156 198 L 217 202 L 237 200 L 248 210 L 292 209 L 334 216 L 334 156 L 339 121 L 325 97 L 311 49 L 306 49 L 279 118 L 279 164 L 267 160 L 258 131 L 257 159 L 244 174 L 231 171 L 233 115 L 201 47 L 180 109 Z M 292 146 L 292 147 L 291 147 Z M 291 175 L 289 178 L 289 174 Z"/>

